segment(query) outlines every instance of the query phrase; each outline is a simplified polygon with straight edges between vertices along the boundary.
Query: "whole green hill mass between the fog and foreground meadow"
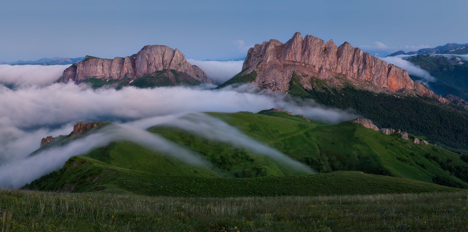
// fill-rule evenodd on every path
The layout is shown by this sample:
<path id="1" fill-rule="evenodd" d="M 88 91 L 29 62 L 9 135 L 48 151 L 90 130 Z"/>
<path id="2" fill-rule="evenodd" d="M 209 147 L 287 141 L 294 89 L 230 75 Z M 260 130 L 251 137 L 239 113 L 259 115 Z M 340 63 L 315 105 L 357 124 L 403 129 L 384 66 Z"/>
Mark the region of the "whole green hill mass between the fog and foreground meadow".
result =
<path id="1" fill-rule="evenodd" d="M 208 164 L 190 166 L 134 143 L 115 142 L 72 157 L 60 170 L 25 188 L 167 196 L 276 196 L 448 190 L 432 183 L 468 187 L 468 165 L 460 154 L 436 145 L 413 144 L 399 134 L 385 135 L 351 122 L 307 122 L 283 112 L 208 114 L 322 174 L 306 175 L 265 155 L 180 129 L 155 126 L 148 130 L 197 152 Z M 366 188 L 358 187 L 367 183 Z"/>

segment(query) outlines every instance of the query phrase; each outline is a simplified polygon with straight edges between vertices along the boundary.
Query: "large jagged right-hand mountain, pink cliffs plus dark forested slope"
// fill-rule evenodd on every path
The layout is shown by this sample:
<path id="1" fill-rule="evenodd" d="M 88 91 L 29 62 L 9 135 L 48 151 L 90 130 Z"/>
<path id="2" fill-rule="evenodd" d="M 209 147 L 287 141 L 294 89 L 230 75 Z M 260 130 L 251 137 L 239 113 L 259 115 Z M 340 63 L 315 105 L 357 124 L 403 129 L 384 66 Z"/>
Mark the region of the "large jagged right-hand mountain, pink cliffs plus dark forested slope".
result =
<path id="1" fill-rule="evenodd" d="M 468 150 L 467 110 L 349 43 L 336 47 L 333 41 L 302 39 L 296 33 L 285 44 L 256 44 L 242 71 L 218 88 L 244 83 L 352 109 L 379 127 L 400 128 L 439 146 Z"/>

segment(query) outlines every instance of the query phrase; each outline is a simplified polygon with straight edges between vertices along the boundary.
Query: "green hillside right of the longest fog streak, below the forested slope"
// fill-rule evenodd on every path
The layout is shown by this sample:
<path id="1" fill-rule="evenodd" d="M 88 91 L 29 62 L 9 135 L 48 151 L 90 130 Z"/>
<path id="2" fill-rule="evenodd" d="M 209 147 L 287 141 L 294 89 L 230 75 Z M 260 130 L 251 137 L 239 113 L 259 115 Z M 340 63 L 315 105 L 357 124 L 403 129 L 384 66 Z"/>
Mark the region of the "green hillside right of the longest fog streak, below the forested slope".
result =
<path id="1" fill-rule="evenodd" d="M 212 113 L 212 116 L 222 115 Z M 272 115 L 289 117 L 294 122 L 300 120 L 282 112 Z M 435 145 L 413 144 L 399 135 L 385 135 L 350 122 L 329 125 L 303 121 L 296 127 L 291 127 L 277 121 L 277 117 L 249 113 L 229 114 L 223 120 L 237 126 L 244 124 L 241 130 L 250 137 L 271 145 L 320 172 L 360 170 L 428 182 L 440 175 L 468 187 L 467 183 L 444 171 L 439 163 L 426 158 L 426 154 L 430 153 L 442 161 L 451 160 L 453 166 L 467 167 L 467 163 L 460 159 L 460 154 Z M 307 129 L 310 124 L 312 128 Z"/>

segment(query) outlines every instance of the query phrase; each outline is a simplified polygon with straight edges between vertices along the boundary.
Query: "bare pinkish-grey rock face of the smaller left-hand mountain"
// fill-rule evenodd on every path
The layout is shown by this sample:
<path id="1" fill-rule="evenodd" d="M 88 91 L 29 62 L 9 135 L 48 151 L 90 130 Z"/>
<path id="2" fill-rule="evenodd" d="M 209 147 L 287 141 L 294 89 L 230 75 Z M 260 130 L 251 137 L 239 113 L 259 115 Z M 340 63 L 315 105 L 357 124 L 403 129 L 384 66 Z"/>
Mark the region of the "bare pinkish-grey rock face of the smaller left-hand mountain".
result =
<path id="1" fill-rule="evenodd" d="M 202 83 L 214 84 L 199 67 L 191 65 L 179 50 L 163 45 L 147 45 L 131 57 L 102 59 L 86 56 L 83 61 L 68 67 L 60 78 L 61 82 L 73 80 L 80 83 L 87 78 L 101 80 L 132 80 L 152 76 L 163 69 L 184 72 Z"/>

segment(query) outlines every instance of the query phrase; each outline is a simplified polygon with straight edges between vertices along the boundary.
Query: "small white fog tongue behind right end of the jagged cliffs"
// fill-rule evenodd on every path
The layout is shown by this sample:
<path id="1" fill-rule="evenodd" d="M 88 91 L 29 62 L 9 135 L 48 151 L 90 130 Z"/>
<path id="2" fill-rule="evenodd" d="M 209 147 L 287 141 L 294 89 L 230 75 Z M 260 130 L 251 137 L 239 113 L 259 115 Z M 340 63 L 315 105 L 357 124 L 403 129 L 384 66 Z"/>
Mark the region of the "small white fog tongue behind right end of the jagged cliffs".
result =
<path id="1" fill-rule="evenodd" d="M 411 55 L 398 55 L 394 57 L 382 57 L 380 59 L 386 61 L 388 64 L 394 64 L 406 71 L 408 71 L 409 75 L 416 76 L 418 78 L 421 78 L 421 82 L 424 84 L 428 85 L 431 82 L 434 82 L 436 79 L 429 74 L 429 72 L 425 71 L 424 69 L 420 68 L 417 65 L 413 65 L 411 62 L 408 60 L 405 60 L 403 58 L 405 57 L 410 57 Z"/>

